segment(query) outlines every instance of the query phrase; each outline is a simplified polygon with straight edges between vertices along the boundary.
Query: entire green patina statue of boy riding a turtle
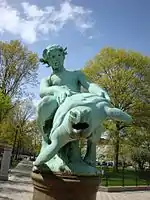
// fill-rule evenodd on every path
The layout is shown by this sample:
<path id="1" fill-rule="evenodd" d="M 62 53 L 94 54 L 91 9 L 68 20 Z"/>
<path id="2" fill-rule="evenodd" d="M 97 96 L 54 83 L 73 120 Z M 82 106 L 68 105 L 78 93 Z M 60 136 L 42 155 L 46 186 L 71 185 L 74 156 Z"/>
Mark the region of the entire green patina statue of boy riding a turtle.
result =
<path id="1" fill-rule="evenodd" d="M 86 79 L 81 71 L 64 68 L 67 48 L 48 46 L 41 62 L 52 67 L 51 76 L 40 84 L 37 124 L 43 135 L 41 151 L 33 171 L 44 170 L 76 175 L 96 175 L 96 143 L 104 132 L 103 121 L 116 119 L 131 122 L 131 117 L 112 108 L 107 92 Z M 87 92 L 81 92 L 84 87 Z M 81 157 L 79 140 L 87 140 Z"/>

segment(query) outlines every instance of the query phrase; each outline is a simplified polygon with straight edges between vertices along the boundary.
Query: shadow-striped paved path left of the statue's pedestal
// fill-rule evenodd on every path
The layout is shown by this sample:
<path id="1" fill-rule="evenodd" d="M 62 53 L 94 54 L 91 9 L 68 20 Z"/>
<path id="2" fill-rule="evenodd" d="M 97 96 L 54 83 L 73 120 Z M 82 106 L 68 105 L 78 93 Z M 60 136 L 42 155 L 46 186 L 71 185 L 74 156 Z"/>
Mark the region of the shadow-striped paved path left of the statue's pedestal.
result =
<path id="1" fill-rule="evenodd" d="M 32 200 L 31 169 L 32 162 L 24 160 L 11 170 L 9 181 L 0 181 L 0 200 Z"/>

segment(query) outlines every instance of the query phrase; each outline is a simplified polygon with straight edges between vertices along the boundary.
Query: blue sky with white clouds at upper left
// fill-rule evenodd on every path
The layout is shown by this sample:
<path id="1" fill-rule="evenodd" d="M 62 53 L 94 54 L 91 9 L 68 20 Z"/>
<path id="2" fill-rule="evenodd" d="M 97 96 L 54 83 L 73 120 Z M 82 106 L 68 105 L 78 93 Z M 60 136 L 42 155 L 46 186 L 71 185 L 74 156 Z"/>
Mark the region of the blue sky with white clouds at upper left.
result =
<path id="1" fill-rule="evenodd" d="M 0 0 L 0 15 L 0 40 L 19 39 L 39 57 L 48 45 L 67 47 L 69 70 L 106 46 L 150 52 L 149 0 Z M 39 81 L 49 74 L 41 65 Z"/>

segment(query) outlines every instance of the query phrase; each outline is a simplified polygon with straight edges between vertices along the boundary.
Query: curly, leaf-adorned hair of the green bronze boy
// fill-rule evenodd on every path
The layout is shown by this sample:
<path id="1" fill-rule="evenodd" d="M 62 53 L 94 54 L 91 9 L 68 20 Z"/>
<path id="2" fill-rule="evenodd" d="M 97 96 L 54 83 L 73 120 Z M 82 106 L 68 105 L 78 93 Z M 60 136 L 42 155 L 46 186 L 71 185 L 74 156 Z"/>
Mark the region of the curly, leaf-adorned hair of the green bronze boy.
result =
<path id="1" fill-rule="evenodd" d="M 59 49 L 63 53 L 64 57 L 67 55 L 67 47 L 63 48 L 60 45 L 51 45 L 44 49 L 43 58 L 40 59 L 40 62 L 43 64 L 48 64 L 49 66 L 48 55 L 50 55 L 51 51 L 56 50 L 56 49 Z"/>

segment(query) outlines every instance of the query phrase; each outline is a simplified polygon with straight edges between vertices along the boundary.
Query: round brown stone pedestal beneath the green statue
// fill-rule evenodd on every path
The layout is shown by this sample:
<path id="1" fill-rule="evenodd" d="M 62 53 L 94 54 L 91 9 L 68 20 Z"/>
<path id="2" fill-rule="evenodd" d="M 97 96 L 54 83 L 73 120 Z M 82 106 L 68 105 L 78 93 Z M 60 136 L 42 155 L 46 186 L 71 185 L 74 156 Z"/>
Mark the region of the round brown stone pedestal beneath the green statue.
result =
<path id="1" fill-rule="evenodd" d="M 96 200 L 99 176 L 32 173 L 32 200 Z"/>

